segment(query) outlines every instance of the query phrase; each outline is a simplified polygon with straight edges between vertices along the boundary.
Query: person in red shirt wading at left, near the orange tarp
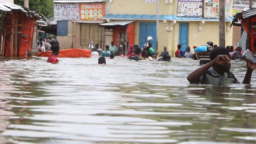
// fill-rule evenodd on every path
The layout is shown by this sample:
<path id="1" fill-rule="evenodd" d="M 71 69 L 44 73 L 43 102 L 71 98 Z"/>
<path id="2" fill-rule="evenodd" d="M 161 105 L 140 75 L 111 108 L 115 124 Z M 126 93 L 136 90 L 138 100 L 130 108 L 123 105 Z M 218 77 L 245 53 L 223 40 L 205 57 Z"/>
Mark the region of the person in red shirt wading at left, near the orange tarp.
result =
<path id="1" fill-rule="evenodd" d="M 59 42 L 56 39 L 52 39 L 50 41 L 50 44 L 51 44 L 52 55 L 49 56 L 47 62 L 56 64 L 59 62 L 59 60 L 57 59 L 57 55 L 59 54 L 59 51 L 60 51 Z"/>

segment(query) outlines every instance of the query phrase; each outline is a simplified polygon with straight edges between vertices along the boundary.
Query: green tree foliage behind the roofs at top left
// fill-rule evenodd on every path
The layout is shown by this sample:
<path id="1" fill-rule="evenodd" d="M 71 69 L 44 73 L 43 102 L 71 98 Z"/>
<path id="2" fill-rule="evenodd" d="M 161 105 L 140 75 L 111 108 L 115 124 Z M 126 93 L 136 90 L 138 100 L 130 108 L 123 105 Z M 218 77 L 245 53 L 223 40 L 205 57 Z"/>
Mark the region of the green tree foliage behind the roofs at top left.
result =
<path id="1" fill-rule="evenodd" d="M 14 0 L 14 4 L 24 6 L 24 0 Z M 53 16 L 53 0 L 29 0 L 29 9 L 37 9 L 45 17 Z"/>

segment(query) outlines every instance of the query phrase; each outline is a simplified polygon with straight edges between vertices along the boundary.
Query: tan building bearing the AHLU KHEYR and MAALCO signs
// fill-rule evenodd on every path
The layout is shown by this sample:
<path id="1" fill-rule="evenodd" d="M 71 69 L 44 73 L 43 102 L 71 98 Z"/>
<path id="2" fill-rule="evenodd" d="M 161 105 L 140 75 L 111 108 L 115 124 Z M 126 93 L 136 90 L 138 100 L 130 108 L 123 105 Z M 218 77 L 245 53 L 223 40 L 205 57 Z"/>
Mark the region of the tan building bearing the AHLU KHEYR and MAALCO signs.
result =
<path id="1" fill-rule="evenodd" d="M 105 45 L 105 0 L 54 0 L 54 19 L 57 21 L 57 39 L 60 49 L 86 49 L 88 43 Z"/>

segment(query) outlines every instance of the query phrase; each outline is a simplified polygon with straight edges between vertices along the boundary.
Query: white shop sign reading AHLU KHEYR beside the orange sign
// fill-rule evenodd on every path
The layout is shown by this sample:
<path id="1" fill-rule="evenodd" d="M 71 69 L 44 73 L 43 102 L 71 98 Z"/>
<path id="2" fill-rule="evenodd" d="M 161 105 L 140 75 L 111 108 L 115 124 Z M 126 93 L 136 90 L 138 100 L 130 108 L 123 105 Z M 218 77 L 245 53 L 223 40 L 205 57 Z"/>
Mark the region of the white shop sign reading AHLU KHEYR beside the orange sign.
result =
<path id="1" fill-rule="evenodd" d="M 55 4 L 53 5 L 54 20 L 79 20 L 78 4 Z"/>

